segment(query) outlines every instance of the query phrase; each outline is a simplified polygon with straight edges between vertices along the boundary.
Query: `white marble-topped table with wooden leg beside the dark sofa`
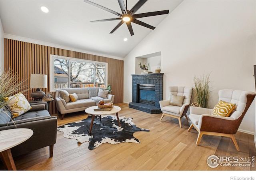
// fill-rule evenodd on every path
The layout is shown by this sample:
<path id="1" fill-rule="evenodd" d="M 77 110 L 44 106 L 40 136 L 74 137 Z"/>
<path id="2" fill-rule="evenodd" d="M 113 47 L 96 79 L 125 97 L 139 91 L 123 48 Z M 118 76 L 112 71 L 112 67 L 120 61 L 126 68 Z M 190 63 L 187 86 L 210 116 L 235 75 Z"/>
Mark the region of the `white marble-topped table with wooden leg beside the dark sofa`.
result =
<path id="1" fill-rule="evenodd" d="M 26 128 L 15 128 L 0 131 L 0 158 L 8 170 L 17 170 L 12 158 L 11 148 L 28 140 L 33 131 Z"/>

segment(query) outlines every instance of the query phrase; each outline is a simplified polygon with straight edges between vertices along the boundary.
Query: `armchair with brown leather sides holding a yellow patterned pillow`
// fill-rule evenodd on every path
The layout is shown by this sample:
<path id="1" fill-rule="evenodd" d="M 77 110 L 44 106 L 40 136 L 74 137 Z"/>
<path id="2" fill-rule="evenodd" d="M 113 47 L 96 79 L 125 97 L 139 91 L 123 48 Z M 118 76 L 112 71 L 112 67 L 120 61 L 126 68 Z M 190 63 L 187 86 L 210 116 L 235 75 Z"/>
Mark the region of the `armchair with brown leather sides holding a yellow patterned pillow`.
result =
<path id="1" fill-rule="evenodd" d="M 204 134 L 230 137 L 240 151 L 234 134 L 236 134 L 244 115 L 254 100 L 255 93 L 243 90 L 224 89 L 218 92 L 219 102 L 213 109 L 190 107 L 188 115 L 193 127 L 198 131 L 196 145 Z"/>

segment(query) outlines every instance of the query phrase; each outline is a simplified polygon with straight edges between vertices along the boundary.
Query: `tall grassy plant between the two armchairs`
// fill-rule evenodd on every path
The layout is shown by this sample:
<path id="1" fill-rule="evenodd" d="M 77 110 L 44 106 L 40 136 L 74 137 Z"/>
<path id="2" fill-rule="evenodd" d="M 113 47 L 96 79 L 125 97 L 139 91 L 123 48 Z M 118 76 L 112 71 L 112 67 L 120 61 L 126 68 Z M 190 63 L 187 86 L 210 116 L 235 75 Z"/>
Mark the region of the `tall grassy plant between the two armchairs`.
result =
<path id="1" fill-rule="evenodd" d="M 210 73 L 196 77 L 194 76 L 194 85 L 196 90 L 196 100 L 200 107 L 208 108 L 208 101 L 210 99 L 210 81 L 209 81 Z"/>

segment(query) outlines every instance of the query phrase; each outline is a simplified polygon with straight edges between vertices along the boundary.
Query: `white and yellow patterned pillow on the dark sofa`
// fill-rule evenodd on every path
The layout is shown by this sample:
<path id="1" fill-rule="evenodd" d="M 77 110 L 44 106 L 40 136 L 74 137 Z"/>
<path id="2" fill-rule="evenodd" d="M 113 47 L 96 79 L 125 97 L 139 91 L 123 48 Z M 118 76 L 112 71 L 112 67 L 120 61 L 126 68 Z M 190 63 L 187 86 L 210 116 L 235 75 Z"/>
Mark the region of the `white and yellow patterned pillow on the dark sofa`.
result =
<path id="1" fill-rule="evenodd" d="M 12 112 L 13 118 L 18 117 L 31 109 L 28 100 L 21 92 L 6 98 L 6 102 L 8 104 L 8 108 Z"/>

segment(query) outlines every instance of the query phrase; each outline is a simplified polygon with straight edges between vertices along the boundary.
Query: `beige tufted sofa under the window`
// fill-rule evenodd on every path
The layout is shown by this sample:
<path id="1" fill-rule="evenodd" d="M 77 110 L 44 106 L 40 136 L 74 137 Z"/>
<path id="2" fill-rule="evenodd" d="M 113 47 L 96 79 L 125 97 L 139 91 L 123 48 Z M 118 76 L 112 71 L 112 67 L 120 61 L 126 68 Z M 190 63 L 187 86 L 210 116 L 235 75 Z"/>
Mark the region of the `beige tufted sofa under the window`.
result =
<path id="1" fill-rule="evenodd" d="M 92 90 L 97 92 L 92 93 Z M 68 92 L 68 94 L 74 95 L 75 93 L 78 100 L 72 102 L 71 100 L 68 101 L 65 99 L 65 97 L 63 97 L 63 92 L 65 91 Z M 104 96 L 102 96 L 102 92 L 104 92 Z M 114 103 L 114 97 L 113 94 L 106 94 L 104 88 L 66 88 L 56 90 L 55 103 L 58 111 L 62 114 L 61 119 L 63 119 L 64 115 L 67 113 L 84 111 L 88 107 L 96 106 L 99 100 L 104 100 L 105 103 L 111 101 Z"/>

